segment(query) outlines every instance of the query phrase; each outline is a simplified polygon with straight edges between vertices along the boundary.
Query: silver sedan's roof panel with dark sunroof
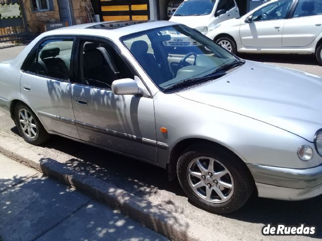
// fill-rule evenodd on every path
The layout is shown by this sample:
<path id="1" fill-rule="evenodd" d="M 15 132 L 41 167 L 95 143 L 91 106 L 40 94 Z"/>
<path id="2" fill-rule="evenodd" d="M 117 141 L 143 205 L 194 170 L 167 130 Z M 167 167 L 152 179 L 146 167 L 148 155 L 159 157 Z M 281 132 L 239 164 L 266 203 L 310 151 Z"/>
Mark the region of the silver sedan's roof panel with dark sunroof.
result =
<path id="1" fill-rule="evenodd" d="M 161 28 L 177 25 L 169 21 L 109 21 L 100 23 L 80 24 L 70 27 L 48 31 L 43 34 L 53 35 L 93 35 L 104 36 L 110 39 L 118 39 L 122 36 L 145 31 L 148 29 Z"/>

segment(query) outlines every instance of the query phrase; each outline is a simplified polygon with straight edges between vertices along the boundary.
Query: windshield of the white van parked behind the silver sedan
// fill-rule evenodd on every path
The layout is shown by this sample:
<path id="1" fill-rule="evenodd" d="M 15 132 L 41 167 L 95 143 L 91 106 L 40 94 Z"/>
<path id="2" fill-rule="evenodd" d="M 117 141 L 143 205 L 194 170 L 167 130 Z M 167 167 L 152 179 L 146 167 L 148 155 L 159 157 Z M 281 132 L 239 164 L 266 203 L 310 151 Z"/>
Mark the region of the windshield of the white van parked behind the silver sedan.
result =
<path id="1" fill-rule="evenodd" d="M 212 12 L 216 1 L 210 0 L 190 0 L 183 2 L 174 16 L 199 16 L 209 15 Z"/>

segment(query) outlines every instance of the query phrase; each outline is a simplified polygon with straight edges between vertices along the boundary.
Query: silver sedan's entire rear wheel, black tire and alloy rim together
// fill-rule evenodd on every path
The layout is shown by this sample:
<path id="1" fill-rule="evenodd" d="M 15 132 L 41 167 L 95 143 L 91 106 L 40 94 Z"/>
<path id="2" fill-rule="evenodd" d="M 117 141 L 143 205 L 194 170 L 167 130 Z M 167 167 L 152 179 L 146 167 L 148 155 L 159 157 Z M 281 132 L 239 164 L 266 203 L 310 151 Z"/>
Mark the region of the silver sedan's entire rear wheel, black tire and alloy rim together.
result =
<path id="1" fill-rule="evenodd" d="M 41 145 L 50 139 L 35 113 L 23 103 L 15 107 L 15 123 L 20 135 L 30 144 Z"/>

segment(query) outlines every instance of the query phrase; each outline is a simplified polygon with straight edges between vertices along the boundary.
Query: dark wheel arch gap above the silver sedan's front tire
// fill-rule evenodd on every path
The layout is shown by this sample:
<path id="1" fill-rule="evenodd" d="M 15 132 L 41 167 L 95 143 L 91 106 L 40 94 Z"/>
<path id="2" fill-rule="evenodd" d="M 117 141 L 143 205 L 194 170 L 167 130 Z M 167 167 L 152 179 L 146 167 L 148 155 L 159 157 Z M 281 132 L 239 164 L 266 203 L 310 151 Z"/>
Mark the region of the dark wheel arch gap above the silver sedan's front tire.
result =
<path id="1" fill-rule="evenodd" d="M 187 149 L 189 146 L 196 144 L 196 143 L 201 144 L 201 145 L 216 146 L 220 149 L 223 149 L 223 150 L 229 152 L 231 155 L 235 156 L 238 160 L 240 160 L 240 162 L 243 162 L 245 164 L 245 161 L 243 160 L 243 158 L 238 156 L 235 152 L 233 152 L 229 148 L 223 146 L 222 144 L 219 144 L 218 142 L 210 141 L 210 140 L 203 139 L 203 138 L 184 139 L 184 140 L 181 140 L 180 142 L 178 142 L 171 150 L 169 164 L 168 164 L 168 168 L 167 168 L 168 174 L 169 174 L 169 180 L 173 180 L 177 176 L 177 163 L 178 163 L 178 159 L 179 159 L 180 155 L 183 153 L 183 151 L 185 149 Z M 245 166 L 249 170 L 249 168 L 247 167 L 246 164 L 245 164 Z M 251 175 L 251 172 L 250 172 L 250 175 Z M 252 176 L 252 178 L 253 178 L 253 176 Z"/>

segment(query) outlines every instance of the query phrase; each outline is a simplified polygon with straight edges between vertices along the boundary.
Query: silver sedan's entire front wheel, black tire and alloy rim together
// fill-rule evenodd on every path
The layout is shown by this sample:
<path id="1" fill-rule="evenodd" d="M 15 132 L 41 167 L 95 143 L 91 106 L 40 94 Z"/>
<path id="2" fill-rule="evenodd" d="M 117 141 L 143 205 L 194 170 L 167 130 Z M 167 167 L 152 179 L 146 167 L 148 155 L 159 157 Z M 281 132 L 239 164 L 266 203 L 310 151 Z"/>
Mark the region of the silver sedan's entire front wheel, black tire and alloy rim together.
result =
<path id="1" fill-rule="evenodd" d="M 215 213 L 236 211 L 254 190 L 246 165 L 235 155 L 211 145 L 187 148 L 178 160 L 177 175 L 191 201 Z"/>

